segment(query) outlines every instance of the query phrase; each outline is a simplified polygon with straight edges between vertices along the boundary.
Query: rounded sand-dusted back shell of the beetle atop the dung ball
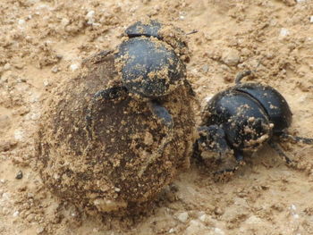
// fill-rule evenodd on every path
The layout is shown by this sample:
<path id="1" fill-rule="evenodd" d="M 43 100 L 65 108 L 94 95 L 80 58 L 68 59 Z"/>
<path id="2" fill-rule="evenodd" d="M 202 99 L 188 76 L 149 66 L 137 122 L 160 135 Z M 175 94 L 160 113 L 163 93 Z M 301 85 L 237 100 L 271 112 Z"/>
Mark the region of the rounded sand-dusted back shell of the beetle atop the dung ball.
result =
<path id="1" fill-rule="evenodd" d="M 156 38 L 130 38 L 119 47 L 124 86 L 142 97 L 168 95 L 186 77 L 173 48 Z"/>

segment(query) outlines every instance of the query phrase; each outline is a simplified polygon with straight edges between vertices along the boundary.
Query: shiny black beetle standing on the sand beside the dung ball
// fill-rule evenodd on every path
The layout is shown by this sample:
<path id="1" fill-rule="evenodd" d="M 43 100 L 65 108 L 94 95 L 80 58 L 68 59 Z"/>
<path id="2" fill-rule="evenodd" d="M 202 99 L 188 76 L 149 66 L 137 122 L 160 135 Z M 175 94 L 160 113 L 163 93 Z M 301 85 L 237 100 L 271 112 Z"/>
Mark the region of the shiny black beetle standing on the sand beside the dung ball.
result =
<path id="1" fill-rule="evenodd" d="M 194 156 L 206 158 L 206 152 L 217 153 L 219 160 L 234 155 L 236 164 L 222 172 L 234 172 L 243 163 L 244 152 L 255 152 L 265 143 L 274 148 L 287 164 L 292 160 L 283 153 L 279 140 L 313 144 L 313 138 L 295 137 L 287 129 L 292 123 L 292 111 L 284 97 L 270 86 L 241 83 L 251 71 L 240 73 L 236 85 L 217 93 L 202 112 L 199 138 Z M 210 158 L 210 156 L 208 157 Z"/>

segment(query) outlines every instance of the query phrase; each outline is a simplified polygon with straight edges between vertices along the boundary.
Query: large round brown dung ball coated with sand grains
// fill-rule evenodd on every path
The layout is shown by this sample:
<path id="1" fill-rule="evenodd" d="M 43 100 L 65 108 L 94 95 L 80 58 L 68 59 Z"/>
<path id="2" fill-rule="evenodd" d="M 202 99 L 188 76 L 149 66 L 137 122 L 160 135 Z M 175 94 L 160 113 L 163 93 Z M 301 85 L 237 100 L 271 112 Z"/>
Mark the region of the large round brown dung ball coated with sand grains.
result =
<path id="1" fill-rule="evenodd" d="M 128 212 L 156 197 L 189 164 L 193 142 L 191 98 L 183 86 L 158 100 L 171 113 L 173 130 L 158 122 L 146 100 L 127 93 L 97 100 L 87 127 L 94 94 L 116 82 L 114 64 L 114 55 L 106 55 L 65 80 L 38 130 L 38 169 L 47 188 L 89 213 Z"/>

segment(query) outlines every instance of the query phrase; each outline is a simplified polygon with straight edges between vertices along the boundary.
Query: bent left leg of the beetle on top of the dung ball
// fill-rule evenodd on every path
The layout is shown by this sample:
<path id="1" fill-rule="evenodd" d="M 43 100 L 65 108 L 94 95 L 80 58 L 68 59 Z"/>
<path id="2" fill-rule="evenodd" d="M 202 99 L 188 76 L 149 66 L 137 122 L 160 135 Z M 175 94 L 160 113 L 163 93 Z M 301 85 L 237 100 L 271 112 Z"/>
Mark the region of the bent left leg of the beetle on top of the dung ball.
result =
<path id="1" fill-rule="evenodd" d="M 88 132 L 89 138 L 92 138 L 92 115 L 94 112 L 94 105 L 97 102 L 104 102 L 110 100 L 118 100 L 122 99 L 123 95 L 127 92 L 126 88 L 124 87 L 113 87 L 113 88 L 106 88 L 97 91 L 97 93 L 91 98 L 87 112 L 86 112 L 86 130 Z"/>

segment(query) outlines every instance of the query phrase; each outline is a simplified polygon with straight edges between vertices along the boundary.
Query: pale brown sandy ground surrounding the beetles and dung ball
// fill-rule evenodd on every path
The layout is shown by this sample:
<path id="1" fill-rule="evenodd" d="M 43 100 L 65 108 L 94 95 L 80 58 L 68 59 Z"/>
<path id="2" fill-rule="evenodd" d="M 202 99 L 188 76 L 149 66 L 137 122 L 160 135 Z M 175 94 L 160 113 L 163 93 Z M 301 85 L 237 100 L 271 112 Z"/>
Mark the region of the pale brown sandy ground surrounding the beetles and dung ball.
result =
<path id="1" fill-rule="evenodd" d="M 189 36 L 188 71 L 202 107 L 237 72 L 257 68 L 253 80 L 291 105 L 291 132 L 313 137 L 311 0 L 116 2 L 0 2 L 0 234 L 313 234 L 313 147 L 300 144 L 283 145 L 296 167 L 264 147 L 227 182 L 191 163 L 148 214 L 133 218 L 88 216 L 45 189 L 34 134 L 51 89 L 147 15 L 199 30 Z"/>

